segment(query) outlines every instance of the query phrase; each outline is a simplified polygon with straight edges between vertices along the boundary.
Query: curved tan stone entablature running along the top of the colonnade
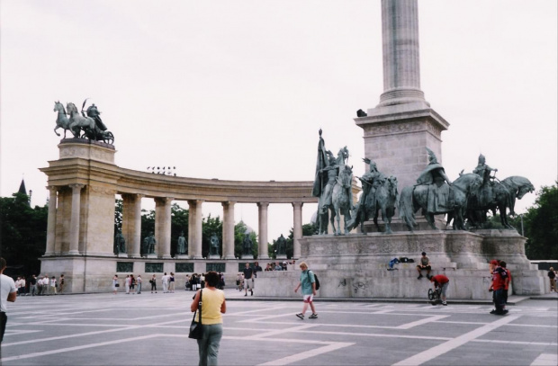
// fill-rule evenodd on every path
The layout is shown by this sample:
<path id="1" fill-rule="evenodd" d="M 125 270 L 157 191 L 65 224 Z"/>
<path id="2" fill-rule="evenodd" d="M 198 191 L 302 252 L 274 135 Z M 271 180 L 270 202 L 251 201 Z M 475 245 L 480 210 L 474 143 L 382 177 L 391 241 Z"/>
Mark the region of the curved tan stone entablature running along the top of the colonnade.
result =
<path id="1" fill-rule="evenodd" d="M 312 181 L 229 181 L 164 174 L 152 174 L 79 157 L 49 161 L 40 168 L 49 176 L 49 185 L 71 183 L 102 186 L 116 194 L 169 197 L 176 201 L 201 200 L 239 203 L 317 202 L 312 197 Z"/>

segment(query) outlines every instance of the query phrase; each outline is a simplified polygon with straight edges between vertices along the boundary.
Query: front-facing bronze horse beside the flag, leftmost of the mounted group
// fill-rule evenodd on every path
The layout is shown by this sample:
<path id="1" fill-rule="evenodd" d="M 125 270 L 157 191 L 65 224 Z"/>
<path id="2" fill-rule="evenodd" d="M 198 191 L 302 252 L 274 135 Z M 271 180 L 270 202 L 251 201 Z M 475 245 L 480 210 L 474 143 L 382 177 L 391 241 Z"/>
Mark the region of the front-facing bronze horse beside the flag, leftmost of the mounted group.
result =
<path id="1" fill-rule="evenodd" d="M 331 225 L 336 235 L 341 235 L 341 215 L 343 215 L 345 234 L 347 235 L 350 231 L 347 228 L 347 222 L 351 219 L 351 209 L 353 207 L 352 183 L 353 169 L 348 165 L 340 166 L 337 183 L 333 187 L 331 196 Z M 337 219 L 337 228 L 335 227 L 334 219 Z"/>

